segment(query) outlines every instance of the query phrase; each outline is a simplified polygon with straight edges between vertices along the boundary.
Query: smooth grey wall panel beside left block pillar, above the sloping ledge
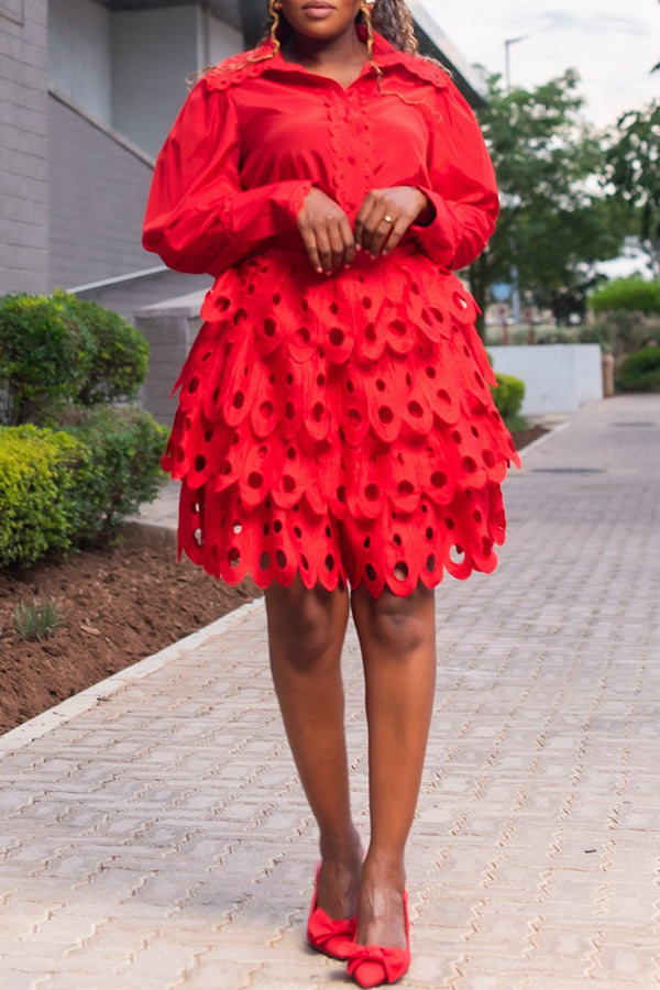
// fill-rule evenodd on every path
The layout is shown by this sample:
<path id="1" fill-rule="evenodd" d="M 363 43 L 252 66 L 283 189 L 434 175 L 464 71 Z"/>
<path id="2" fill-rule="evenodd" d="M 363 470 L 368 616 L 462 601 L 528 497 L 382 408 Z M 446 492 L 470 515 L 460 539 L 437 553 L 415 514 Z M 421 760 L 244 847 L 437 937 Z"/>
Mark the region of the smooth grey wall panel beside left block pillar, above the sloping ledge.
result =
<path id="1" fill-rule="evenodd" d="M 112 122 L 110 12 L 94 0 L 48 0 L 48 81 L 101 123 Z"/>

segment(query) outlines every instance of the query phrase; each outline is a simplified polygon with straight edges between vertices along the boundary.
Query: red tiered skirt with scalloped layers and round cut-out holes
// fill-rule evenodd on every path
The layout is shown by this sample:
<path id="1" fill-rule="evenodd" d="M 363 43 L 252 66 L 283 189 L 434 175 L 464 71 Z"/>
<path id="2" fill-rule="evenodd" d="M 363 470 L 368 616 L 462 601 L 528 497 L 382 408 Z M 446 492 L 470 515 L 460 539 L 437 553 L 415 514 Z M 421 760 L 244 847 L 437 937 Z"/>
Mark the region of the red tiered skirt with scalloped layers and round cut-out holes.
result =
<path id="1" fill-rule="evenodd" d="M 230 584 L 374 596 L 495 568 L 519 460 L 455 276 L 413 245 L 332 276 L 271 252 L 201 315 L 163 460 L 179 553 Z"/>

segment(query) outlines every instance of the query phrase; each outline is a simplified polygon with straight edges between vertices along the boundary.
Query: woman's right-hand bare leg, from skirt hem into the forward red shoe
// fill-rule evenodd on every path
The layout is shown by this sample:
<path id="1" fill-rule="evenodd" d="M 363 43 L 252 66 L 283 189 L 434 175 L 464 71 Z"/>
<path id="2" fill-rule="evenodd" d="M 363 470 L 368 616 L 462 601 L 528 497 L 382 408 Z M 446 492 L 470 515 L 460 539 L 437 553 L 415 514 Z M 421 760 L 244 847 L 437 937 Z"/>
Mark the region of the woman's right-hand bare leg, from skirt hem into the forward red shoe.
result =
<path id="1" fill-rule="evenodd" d="M 433 592 L 352 596 L 364 662 L 371 843 L 362 872 L 358 943 L 406 945 L 405 849 L 415 816 L 436 686 Z"/>

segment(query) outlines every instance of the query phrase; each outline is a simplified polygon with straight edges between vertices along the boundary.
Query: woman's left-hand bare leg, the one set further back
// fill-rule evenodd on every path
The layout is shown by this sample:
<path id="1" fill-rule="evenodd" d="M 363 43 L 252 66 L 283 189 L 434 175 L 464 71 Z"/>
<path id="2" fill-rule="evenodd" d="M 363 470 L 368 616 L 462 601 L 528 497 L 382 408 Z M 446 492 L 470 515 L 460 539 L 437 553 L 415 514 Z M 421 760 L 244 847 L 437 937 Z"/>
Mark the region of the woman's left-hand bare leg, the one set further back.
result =
<path id="1" fill-rule="evenodd" d="M 351 818 L 341 678 L 348 594 L 296 579 L 267 590 L 266 609 L 275 691 L 320 831 L 318 905 L 330 917 L 354 917 L 362 847 Z"/>

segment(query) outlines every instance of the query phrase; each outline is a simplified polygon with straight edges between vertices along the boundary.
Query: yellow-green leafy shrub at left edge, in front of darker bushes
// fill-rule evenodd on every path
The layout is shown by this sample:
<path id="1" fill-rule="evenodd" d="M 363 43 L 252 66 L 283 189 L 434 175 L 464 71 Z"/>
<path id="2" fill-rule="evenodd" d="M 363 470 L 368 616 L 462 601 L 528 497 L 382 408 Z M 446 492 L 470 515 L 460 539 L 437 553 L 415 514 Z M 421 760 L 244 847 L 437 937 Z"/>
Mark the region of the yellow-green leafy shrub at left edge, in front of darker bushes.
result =
<path id="1" fill-rule="evenodd" d="M 68 433 L 0 427 L 0 566 L 28 566 L 72 547 L 76 475 L 86 458 Z"/>

